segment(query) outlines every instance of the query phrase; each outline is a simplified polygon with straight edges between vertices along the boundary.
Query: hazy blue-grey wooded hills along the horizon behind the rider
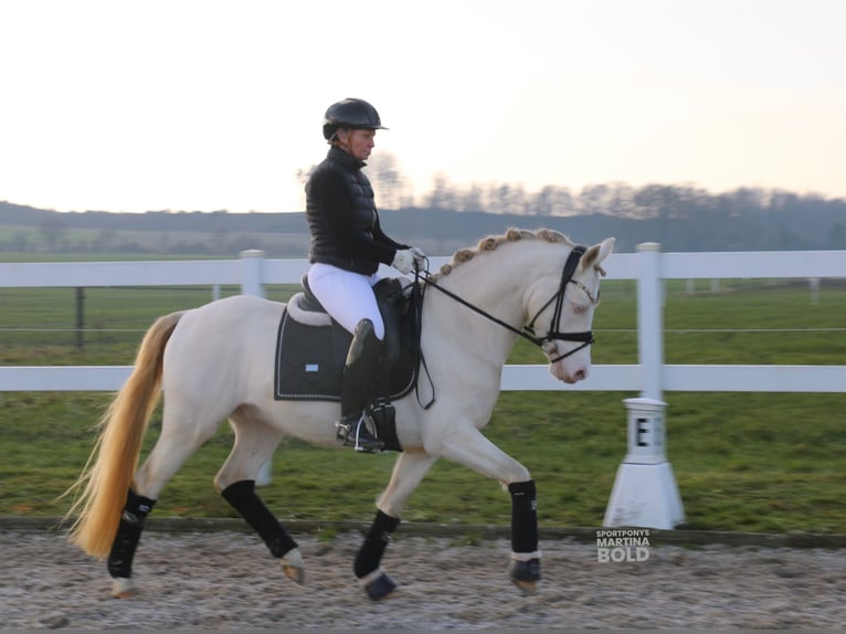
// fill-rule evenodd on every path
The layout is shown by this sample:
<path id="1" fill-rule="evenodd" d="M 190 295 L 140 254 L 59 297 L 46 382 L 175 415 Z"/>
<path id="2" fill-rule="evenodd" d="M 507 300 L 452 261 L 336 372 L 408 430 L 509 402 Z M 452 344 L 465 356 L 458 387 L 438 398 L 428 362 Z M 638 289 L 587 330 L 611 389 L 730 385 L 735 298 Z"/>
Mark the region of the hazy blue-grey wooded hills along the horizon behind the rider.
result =
<path id="1" fill-rule="evenodd" d="M 659 242 L 665 251 L 676 252 L 846 249 L 846 201 L 842 199 L 759 190 L 708 194 L 657 186 L 603 192 L 599 198 L 592 190 L 569 199 L 565 210 L 528 199 L 521 208 L 526 213 L 488 213 L 454 198 L 454 208 L 382 210 L 380 214 L 389 235 L 431 255 L 448 255 L 510 226 L 556 229 L 584 244 L 614 235 L 621 252 L 632 252 L 641 242 Z M 304 215 L 56 212 L 0 201 L 0 253 L 232 256 L 261 249 L 269 257 L 302 257 L 309 243 Z"/>

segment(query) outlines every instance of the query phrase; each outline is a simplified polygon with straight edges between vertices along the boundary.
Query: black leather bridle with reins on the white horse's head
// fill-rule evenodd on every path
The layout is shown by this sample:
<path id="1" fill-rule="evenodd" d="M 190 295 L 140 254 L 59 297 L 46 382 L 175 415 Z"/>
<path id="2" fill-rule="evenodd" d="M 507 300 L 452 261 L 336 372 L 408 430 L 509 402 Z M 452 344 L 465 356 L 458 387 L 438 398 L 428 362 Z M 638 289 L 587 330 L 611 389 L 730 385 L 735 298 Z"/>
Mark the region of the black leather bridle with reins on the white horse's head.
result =
<path id="1" fill-rule="evenodd" d="M 426 273 L 425 278 L 425 285 L 431 286 L 432 288 L 437 288 L 441 293 L 444 295 L 451 297 L 452 299 L 455 299 L 458 302 L 458 304 L 462 304 L 469 308 L 470 310 L 474 310 L 475 313 L 478 313 L 483 317 L 489 319 L 490 321 L 494 321 L 495 324 L 498 324 L 503 328 L 506 328 L 510 330 L 511 332 L 515 332 L 526 339 L 527 341 L 531 341 L 536 346 L 538 346 L 543 353 L 549 359 L 550 363 L 557 363 L 561 359 L 567 359 L 570 355 L 574 355 L 582 348 L 586 348 L 591 344 L 593 344 L 593 331 L 592 330 L 585 330 L 584 332 L 559 332 L 558 330 L 554 330 L 558 323 L 561 319 L 561 314 L 563 311 L 564 307 L 564 292 L 567 290 L 568 284 L 573 284 L 577 287 L 584 290 L 584 293 L 588 294 L 588 297 L 590 298 L 592 304 L 599 303 L 599 294 L 596 297 L 593 296 L 593 293 L 591 293 L 590 288 L 588 288 L 584 284 L 579 282 L 578 279 L 573 279 L 573 274 L 575 273 L 577 267 L 579 266 L 579 261 L 581 260 L 582 255 L 588 250 L 584 246 L 575 246 L 570 252 L 570 255 L 567 257 L 567 262 L 564 262 L 564 268 L 561 272 L 561 283 L 558 286 L 558 292 L 549 298 L 549 300 L 543 304 L 543 306 L 540 307 L 540 309 L 535 314 L 535 317 L 532 317 L 528 324 L 526 324 L 522 328 L 515 328 L 510 324 L 507 324 L 503 321 L 501 319 L 498 319 L 497 317 L 494 317 L 489 313 L 486 313 L 478 306 L 475 306 L 464 299 L 463 297 L 456 295 L 455 293 L 447 290 L 443 286 L 438 286 L 431 276 Z M 420 272 L 417 272 L 417 275 L 420 275 Z M 549 325 L 549 331 L 543 337 L 538 337 L 535 334 L 535 323 L 538 320 L 538 317 L 540 317 L 540 314 L 543 313 L 552 303 L 554 302 L 556 308 L 552 313 L 552 320 Z M 558 347 L 556 346 L 556 341 L 577 341 L 581 342 L 581 346 L 578 346 L 570 350 L 569 352 L 564 352 L 563 355 L 552 358 L 552 355 L 554 355 L 558 351 Z"/>

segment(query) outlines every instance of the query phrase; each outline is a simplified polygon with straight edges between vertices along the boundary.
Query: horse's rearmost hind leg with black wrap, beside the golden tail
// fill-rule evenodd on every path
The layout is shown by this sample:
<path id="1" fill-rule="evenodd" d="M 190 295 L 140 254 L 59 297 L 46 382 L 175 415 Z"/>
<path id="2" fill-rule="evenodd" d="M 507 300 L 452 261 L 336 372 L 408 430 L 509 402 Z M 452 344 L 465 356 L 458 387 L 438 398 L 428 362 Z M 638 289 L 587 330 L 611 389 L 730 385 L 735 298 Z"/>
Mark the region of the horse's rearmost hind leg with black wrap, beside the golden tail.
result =
<path id="1" fill-rule="evenodd" d="M 187 418 L 175 414 L 175 406 L 165 406 L 161 435 L 156 446 L 133 478 L 127 492 L 124 513 L 112 543 L 107 567 L 113 579 L 112 595 L 130 596 L 135 591 L 133 561 L 141 539 L 147 515 L 152 510 L 161 489 L 179 471 L 186 459 L 208 441 L 218 424 L 187 427 L 179 423 Z"/>

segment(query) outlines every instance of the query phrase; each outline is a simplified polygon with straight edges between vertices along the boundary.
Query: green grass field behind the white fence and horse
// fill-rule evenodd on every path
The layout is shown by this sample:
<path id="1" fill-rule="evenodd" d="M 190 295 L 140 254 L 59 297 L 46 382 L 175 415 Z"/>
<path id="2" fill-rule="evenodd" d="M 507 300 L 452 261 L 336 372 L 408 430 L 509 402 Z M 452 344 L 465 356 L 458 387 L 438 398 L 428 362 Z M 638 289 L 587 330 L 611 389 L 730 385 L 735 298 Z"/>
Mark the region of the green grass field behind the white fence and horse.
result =
<path id="1" fill-rule="evenodd" d="M 231 295 L 236 288 L 223 288 Z M 284 299 L 289 287 L 272 287 Z M 0 288 L 0 363 L 128 364 L 158 315 L 211 299 L 210 288 L 89 288 L 77 338 L 74 289 Z M 595 363 L 636 363 L 635 288 L 605 282 L 594 329 Z M 846 287 L 824 284 L 819 302 L 805 282 L 721 281 L 689 294 L 669 284 L 668 363 L 846 363 Z M 520 341 L 510 362 L 539 363 Z M 844 381 L 846 384 L 846 380 Z M 541 525 L 602 522 L 625 452 L 625 408 L 635 393 L 504 392 L 489 437 L 532 472 Z M 109 394 L 0 393 L 0 515 L 59 516 L 56 501 L 91 451 L 92 425 Z M 690 528 L 845 532 L 843 455 L 846 393 L 666 393 L 668 455 Z M 157 422 L 150 429 L 151 446 Z M 166 487 L 158 517 L 231 517 L 211 478 L 229 452 L 223 425 Z M 362 520 L 388 482 L 393 456 L 362 456 L 286 441 L 263 488 L 279 517 Z M 499 486 L 441 461 L 411 499 L 404 519 L 507 525 Z"/>

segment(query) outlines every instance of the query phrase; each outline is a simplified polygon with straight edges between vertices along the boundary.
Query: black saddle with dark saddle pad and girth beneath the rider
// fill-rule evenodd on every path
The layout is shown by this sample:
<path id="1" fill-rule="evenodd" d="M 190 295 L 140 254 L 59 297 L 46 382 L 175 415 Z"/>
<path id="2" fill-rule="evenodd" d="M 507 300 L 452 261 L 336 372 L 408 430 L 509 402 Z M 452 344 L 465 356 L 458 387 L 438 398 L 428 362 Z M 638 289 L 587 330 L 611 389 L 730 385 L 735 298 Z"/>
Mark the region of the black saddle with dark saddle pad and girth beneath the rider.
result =
<path id="1" fill-rule="evenodd" d="M 403 288 L 395 278 L 373 286 L 384 321 L 384 348 L 371 388 L 371 413 L 385 448 L 401 451 L 391 401 L 408 395 L 420 369 L 420 304 L 416 284 Z M 294 295 L 282 314 L 276 337 L 274 399 L 338 401 L 352 335 L 326 313 L 308 287 Z M 393 445 L 393 446 L 391 446 Z"/>

